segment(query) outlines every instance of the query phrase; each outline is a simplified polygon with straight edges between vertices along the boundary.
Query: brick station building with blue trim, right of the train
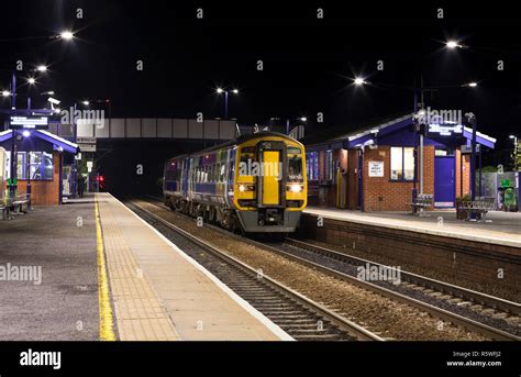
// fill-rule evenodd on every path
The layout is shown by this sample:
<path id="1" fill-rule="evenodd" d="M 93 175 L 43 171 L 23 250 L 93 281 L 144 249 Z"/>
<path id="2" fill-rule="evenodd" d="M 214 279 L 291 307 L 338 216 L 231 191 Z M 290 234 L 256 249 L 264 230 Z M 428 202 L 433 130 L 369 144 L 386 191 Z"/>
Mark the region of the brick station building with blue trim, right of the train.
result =
<path id="1" fill-rule="evenodd" d="M 473 130 L 468 126 L 425 124 L 420 136 L 412 114 L 407 114 L 357 129 L 350 133 L 326 130 L 302 141 L 307 147 L 309 204 L 409 211 L 414 186 L 418 193 L 433 195 L 434 208 L 453 208 L 456 198 L 469 193 Z M 483 148 L 494 148 L 495 143 L 495 138 L 477 132 L 479 169 Z"/>

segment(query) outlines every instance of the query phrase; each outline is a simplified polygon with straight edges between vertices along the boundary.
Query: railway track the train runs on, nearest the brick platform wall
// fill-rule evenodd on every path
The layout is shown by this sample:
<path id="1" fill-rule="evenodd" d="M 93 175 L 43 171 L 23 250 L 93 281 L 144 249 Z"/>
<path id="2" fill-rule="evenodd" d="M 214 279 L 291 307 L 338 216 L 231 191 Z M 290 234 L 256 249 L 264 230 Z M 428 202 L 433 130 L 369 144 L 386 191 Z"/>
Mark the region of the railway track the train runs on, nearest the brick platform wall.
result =
<path id="1" fill-rule="evenodd" d="M 157 198 L 155 198 L 155 200 L 157 200 Z M 163 203 L 149 202 L 149 201 L 148 203 L 154 204 L 162 209 L 168 209 Z M 186 217 L 182 213 L 178 213 L 178 214 L 181 217 Z M 285 242 L 282 243 L 267 244 L 267 243 L 262 243 L 252 239 L 246 239 L 237 234 L 230 233 L 212 224 L 204 224 L 204 225 L 218 232 L 225 233 L 242 242 L 247 242 L 259 248 L 267 250 L 275 254 L 281 255 L 286 258 L 298 262 L 308 267 L 314 268 L 317 270 L 320 270 L 324 274 L 328 274 L 341 280 L 347 281 L 361 288 L 374 291 L 389 299 L 392 299 L 402 303 L 407 303 L 411 307 L 429 312 L 431 315 L 435 318 L 440 318 L 443 321 L 464 326 L 465 329 L 469 331 L 477 332 L 489 339 L 498 340 L 498 341 L 521 341 L 521 337 L 518 336 L 517 334 L 510 333 L 508 331 L 503 331 L 501 329 L 497 329 L 494 325 L 489 325 L 487 323 L 483 323 L 481 321 L 477 321 L 475 319 L 451 311 L 451 306 L 455 304 L 457 307 L 458 304 L 463 302 L 465 304 L 467 303 L 481 304 L 489 309 L 494 309 L 494 310 L 497 309 L 497 310 L 505 311 L 508 314 L 518 315 L 520 312 L 520 304 L 517 302 L 511 302 L 508 300 L 503 300 L 501 298 L 480 293 L 477 291 L 473 291 L 463 287 L 458 287 L 455 285 L 440 281 L 440 280 L 430 279 L 428 277 L 423 277 L 417 274 L 400 271 L 401 278 L 403 280 L 400 284 L 400 286 L 403 286 L 401 288 L 406 288 L 409 291 L 423 290 L 425 295 L 426 293 L 434 295 L 437 299 L 436 301 L 442 301 L 445 303 L 453 301 L 451 306 L 445 304 L 444 306 L 445 308 L 443 308 L 443 306 L 440 307 L 430 302 L 425 302 L 424 300 L 420 300 L 418 298 L 409 296 L 409 293 L 404 293 L 403 291 L 398 291 L 397 289 L 392 288 L 392 285 L 388 285 L 387 287 L 385 287 L 372 281 L 361 280 L 356 277 L 355 274 L 346 273 L 344 268 L 345 265 L 350 265 L 352 267 L 356 267 L 356 266 L 388 267 L 388 266 L 384 266 L 370 260 L 366 260 L 363 258 L 358 258 L 352 255 L 347 255 L 347 254 L 332 251 L 329 248 L 320 247 L 320 246 L 304 243 L 302 241 L 298 241 L 293 239 L 286 239 Z"/>

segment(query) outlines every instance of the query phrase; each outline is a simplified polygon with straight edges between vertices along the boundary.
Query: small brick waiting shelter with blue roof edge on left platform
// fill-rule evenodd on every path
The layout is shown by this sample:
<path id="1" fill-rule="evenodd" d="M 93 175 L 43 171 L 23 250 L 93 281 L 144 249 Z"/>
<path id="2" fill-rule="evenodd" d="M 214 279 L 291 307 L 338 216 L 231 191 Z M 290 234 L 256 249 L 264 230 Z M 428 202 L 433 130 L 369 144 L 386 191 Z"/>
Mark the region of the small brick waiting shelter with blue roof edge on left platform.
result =
<path id="1" fill-rule="evenodd" d="M 56 206 L 63 201 L 64 185 L 68 176 L 65 167 L 74 163 L 78 145 L 45 130 L 5 130 L 0 132 L 0 149 L 3 149 L 3 182 L 1 190 L 8 190 L 11 175 L 11 157 L 16 151 L 16 196 L 31 195 L 32 206 Z M 8 193 L 9 195 L 9 193 Z"/>

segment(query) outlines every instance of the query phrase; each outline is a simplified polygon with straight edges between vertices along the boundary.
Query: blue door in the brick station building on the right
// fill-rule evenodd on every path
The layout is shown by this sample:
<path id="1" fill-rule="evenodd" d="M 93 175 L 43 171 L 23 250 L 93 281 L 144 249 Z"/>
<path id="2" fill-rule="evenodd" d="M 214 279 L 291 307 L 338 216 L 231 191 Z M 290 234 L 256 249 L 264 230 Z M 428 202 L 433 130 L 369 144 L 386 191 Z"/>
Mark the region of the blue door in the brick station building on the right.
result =
<path id="1" fill-rule="evenodd" d="M 454 156 L 436 156 L 434 158 L 434 207 L 454 207 L 455 196 Z"/>

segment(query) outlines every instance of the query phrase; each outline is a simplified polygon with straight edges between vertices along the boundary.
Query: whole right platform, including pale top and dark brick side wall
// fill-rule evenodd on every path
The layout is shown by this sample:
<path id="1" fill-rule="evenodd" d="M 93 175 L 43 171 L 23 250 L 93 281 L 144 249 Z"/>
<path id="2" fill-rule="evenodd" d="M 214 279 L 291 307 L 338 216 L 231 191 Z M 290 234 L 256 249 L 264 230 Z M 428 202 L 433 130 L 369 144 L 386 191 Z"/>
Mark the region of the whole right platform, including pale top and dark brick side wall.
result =
<path id="1" fill-rule="evenodd" d="M 458 220 L 454 210 L 428 214 L 310 207 L 299 234 L 363 258 L 520 301 L 521 213 L 489 212 L 491 222 Z"/>

